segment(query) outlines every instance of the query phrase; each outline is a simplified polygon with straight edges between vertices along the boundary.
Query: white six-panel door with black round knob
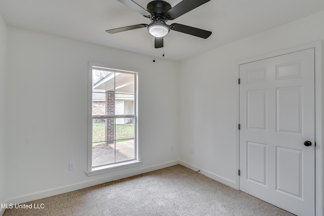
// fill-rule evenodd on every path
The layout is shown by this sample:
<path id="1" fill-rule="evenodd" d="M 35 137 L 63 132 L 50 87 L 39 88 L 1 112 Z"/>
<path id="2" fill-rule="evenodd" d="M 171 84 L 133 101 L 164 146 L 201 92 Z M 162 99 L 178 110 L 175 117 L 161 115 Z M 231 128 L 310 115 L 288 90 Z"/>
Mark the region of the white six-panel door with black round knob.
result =
<path id="1" fill-rule="evenodd" d="M 314 75 L 314 49 L 239 67 L 239 189 L 307 216 L 315 214 Z"/>

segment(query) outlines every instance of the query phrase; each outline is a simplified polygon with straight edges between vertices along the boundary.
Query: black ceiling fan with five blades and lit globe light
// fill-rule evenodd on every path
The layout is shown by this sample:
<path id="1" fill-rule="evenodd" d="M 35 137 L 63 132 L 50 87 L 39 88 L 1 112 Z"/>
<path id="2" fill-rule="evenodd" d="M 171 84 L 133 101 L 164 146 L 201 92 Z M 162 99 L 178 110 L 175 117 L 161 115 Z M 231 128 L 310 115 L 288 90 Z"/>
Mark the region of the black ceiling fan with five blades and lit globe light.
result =
<path id="1" fill-rule="evenodd" d="M 193 36 L 208 38 L 212 32 L 182 25 L 178 23 L 173 23 L 171 25 L 166 24 L 168 20 L 174 20 L 181 15 L 209 2 L 210 0 L 183 0 L 178 5 L 173 8 L 171 5 L 165 1 L 152 1 L 147 4 L 146 10 L 140 5 L 132 0 L 117 0 L 118 2 L 132 8 L 139 14 L 151 20 L 150 24 L 138 24 L 125 26 L 121 28 L 114 28 L 106 30 L 108 33 L 118 33 L 123 31 L 128 31 L 137 28 L 147 27 L 151 35 L 154 36 L 154 47 L 162 48 L 163 37 L 169 33 L 170 30 L 179 31 L 185 34 L 191 34 Z"/>

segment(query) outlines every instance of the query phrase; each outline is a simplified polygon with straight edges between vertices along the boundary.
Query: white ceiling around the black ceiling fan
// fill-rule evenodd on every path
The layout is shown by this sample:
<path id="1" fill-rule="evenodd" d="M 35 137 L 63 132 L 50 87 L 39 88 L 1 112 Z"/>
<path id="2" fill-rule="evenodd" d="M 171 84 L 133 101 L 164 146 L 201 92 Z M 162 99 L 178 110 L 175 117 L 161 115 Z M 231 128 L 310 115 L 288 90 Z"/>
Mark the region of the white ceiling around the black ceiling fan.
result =
<path id="1" fill-rule="evenodd" d="M 172 7 L 181 2 L 167 1 Z M 135 2 L 146 8 L 150 0 Z M 171 31 L 164 49 L 154 49 L 146 28 L 105 32 L 150 22 L 116 0 L 0 0 L 0 13 L 8 25 L 150 56 L 165 53 L 164 58 L 176 61 L 322 10 L 323 0 L 211 0 L 168 21 L 212 31 L 209 38 Z"/>

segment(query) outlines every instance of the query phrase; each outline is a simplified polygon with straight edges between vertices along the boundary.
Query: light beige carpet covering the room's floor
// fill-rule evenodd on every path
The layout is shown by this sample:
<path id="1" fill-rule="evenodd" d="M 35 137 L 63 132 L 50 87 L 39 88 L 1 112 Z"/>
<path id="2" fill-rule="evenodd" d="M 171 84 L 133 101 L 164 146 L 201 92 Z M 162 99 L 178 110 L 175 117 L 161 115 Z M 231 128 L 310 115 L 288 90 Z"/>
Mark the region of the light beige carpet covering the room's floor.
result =
<path id="1" fill-rule="evenodd" d="M 4 215 L 293 215 L 181 165 L 60 194 Z"/>

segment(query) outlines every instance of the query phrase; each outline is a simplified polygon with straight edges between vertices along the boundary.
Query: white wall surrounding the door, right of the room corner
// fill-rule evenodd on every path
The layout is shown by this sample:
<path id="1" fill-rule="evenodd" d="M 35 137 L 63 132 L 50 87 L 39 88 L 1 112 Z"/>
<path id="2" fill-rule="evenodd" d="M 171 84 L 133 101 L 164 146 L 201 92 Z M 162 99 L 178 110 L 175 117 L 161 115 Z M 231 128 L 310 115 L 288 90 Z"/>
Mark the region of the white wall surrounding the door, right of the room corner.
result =
<path id="1" fill-rule="evenodd" d="M 324 40 L 323 20 L 324 11 L 181 62 L 180 159 L 233 186 L 238 61 Z"/>

